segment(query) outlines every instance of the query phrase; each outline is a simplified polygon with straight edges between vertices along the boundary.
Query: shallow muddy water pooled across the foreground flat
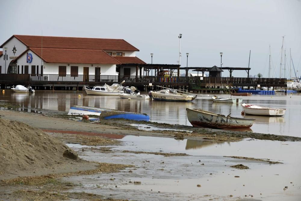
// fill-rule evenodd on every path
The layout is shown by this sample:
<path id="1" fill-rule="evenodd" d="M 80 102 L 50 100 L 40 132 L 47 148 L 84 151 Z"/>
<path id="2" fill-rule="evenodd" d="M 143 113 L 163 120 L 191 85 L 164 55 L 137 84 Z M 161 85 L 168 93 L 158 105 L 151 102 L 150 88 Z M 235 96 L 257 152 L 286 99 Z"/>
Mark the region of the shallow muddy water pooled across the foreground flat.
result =
<path id="1" fill-rule="evenodd" d="M 292 154 L 301 152 L 300 142 L 246 139 L 241 142 L 217 143 L 137 136 L 126 136 L 121 141 L 124 146 L 114 147 L 111 153 L 82 152 L 83 146 L 68 144 L 84 159 L 135 165 L 135 168 L 120 173 L 68 178 L 68 181 L 80 181 L 82 184 L 75 191 L 84 190 L 108 197 L 113 195 L 114 198 L 135 200 L 301 198 L 301 155 Z M 189 156 L 164 157 L 125 153 L 123 150 L 186 153 Z M 283 164 L 224 156 L 264 158 Z M 230 167 L 237 164 L 246 165 L 250 169 Z M 135 185 L 134 181 L 140 181 L 141 184 Z M 197 187 L 198 184 L 201 187 Z M 288 188 L 283 190 L 286 186 Z"/>

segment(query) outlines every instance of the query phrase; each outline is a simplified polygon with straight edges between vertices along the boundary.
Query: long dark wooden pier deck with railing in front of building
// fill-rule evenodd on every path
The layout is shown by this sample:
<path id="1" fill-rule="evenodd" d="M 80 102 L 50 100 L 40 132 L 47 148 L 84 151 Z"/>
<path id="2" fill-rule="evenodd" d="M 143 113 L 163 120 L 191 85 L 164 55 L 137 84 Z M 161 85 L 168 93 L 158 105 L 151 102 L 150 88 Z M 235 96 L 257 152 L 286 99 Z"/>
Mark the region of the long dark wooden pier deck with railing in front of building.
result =
<path id="1" fill-rule="evenodd" d="M 117 76 L 117 75 L 59 75 L 59 74 L 0 74 L 1 85 L 30 86 L 96 86 L 126 81 L 126 86 L 188 86 L 191 89 L 217 86 L 278 86 L 286 87 L 285 78 L 246 77 L 166 77 L 166 76 Z"/>

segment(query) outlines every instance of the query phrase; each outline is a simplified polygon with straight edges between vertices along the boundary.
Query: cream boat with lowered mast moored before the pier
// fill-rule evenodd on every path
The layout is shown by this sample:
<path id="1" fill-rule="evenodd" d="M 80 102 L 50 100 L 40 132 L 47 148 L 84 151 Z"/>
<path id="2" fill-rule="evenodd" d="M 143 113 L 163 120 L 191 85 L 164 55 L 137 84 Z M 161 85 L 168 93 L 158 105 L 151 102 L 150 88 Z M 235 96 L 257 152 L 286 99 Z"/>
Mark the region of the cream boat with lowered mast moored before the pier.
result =
<path id="1" fill-rule="evenodd" d="M 150 91 L 149 95 L 154 100 L 160 100 L 160 101 L 192 101 L 197 98 L 196 94 L 188 93 L 186 91 L 182 90 L 175 90 L 166 88 L 163 86 L 159 86 L 163 88 L 162 90 L 158 91 Z"/>

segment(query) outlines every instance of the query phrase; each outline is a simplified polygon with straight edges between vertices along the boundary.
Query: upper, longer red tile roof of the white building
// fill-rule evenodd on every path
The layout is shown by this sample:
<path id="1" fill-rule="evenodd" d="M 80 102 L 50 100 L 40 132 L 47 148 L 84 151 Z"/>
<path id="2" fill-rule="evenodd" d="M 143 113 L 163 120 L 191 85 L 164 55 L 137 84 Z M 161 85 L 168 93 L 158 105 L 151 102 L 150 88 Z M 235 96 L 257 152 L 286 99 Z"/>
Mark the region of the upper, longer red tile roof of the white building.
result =
<path id="1" fill-rule="evenodd" d="M 43 46 L 43 48 L 139 51 L 139 49 L 135 48 L 134 46 L 132 46 L 131 44 L 129 44 L 123 39 L 76 38 L 76 37 L 57 37 L 57 36 L 26 36 L 26 35 L 13 35 L 11 36 L 11 38 L 12 37 L 17 38 L 24 45 L 31 48 L 36 48 L 36 47 L 40 48 Z M 0 47 L 3 47 L 5 43 L 3 43 Z"/>

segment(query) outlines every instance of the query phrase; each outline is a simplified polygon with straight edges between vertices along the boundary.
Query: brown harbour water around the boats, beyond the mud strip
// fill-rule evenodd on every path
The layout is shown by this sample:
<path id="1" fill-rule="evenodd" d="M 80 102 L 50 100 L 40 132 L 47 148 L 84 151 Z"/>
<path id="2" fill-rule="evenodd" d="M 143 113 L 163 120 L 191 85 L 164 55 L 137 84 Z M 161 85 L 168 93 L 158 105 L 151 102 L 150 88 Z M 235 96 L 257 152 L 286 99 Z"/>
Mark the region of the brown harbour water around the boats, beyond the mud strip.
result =
<path id="1" fill-rule="evenodd" d="M 191 125 L 187 119 L 186 108 L 202 108 L 218 114 L 228 115 L 231 113 L 231 116 L 243 117 L 241 115 L 243 108 L 240 104 L 213 103 L 211 96 L 213 94 L 200 94 L 193 102 L 162 102 L 134 99 L 129 101 L 120 99 L 119 96 L 87 96 L 83 91 L 78 93 L 74 91 L 36 91 L 35 94 L 22 94 L 6 90 L 5 93 L 0 93 L 0 101 L 20 105 L 19 110 L 29 112 L 32 109 L 45 109 L 67 113 L 72 105 L 118 109 L 146 113 L 154 122 L 183 125 Z M 300 94 L 285 96 L 284 93 L 278 93 L 278 96 L 242 96 L 241 98 L 245 103 L 286 108 L 284 117 L 245 115 L 246 118 L 256 118 L 251 127 L 253 132 L 301 137 L 301 132 L 298 131 L 301 122 Z"/>

